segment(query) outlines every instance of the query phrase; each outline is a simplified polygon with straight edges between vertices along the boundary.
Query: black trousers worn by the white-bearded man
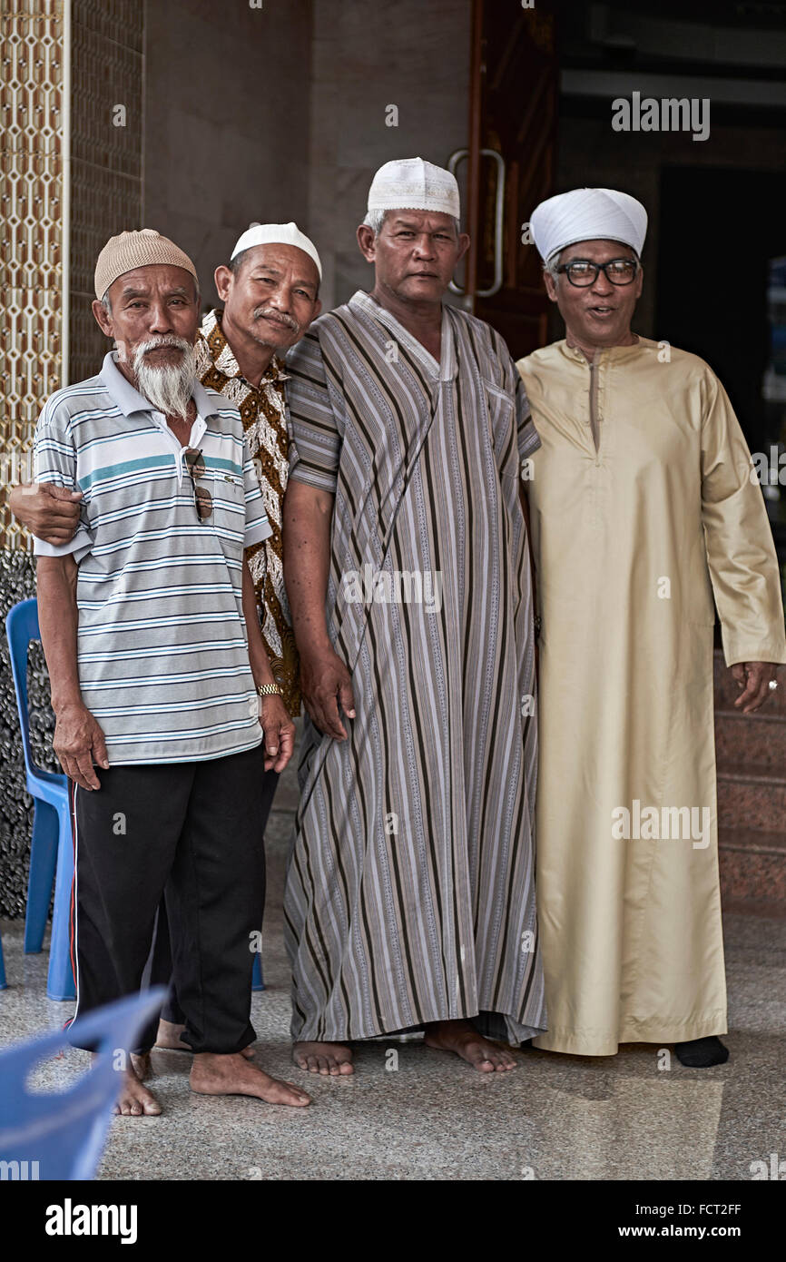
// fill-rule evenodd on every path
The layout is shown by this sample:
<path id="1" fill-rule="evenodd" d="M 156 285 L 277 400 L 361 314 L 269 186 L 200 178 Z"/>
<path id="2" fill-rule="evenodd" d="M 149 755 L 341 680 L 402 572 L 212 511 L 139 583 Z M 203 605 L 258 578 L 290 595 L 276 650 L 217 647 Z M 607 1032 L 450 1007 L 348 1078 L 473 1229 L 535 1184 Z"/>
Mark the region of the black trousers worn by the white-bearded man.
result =
<path id="1" fill-rule="evenodd" d="M 194 1051 L 242 1051 L 251 1026 L 252 935 L 265 901 L 262 748 L 198 762 L 116 766 L 72 786 L 79 1017 L 140 988 L 161 896 Z M 158 1017 L 136 1050 L 155 1041 Z"/>

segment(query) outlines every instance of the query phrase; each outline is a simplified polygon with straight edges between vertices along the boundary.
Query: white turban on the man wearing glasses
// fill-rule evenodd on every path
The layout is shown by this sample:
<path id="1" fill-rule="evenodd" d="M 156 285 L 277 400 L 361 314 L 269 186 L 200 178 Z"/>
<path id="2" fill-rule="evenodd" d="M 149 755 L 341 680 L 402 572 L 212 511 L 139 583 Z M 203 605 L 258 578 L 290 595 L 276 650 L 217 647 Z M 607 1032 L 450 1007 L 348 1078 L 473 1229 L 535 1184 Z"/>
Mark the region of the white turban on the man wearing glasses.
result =
<path id="1" fill-rule="evenodd" d="M 530 227 L 544 262 L 577 241 L 622 241 L 641 255 L 647 212 L 614 188 L 574 188 L 536 206 Z"/>

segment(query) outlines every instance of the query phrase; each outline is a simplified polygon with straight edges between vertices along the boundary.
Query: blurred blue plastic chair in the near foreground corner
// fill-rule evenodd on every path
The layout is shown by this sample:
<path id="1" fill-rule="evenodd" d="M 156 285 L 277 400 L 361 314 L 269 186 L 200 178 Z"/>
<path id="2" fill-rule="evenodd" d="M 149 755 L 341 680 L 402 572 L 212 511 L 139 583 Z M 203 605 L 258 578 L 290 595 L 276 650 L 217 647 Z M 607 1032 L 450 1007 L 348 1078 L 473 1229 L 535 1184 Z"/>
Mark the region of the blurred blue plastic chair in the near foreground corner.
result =
<path id="1" fill-rule="evenodd" d="M 117 1051 L 134 1046 L 165 994 L 159 986 L 79 1017 L 79 1034 L 97 1044 L 98 1055 L 69 1090 L 32 1093 L 25 1087 L 39 1061 L 68 1045 L 68 1031 L 0 1051 L 0 1160 L 18 1162 L 11 1179 L 93 1177 L 121 1084 Z M 4 1171 L 9 1177 L 8 1166 Z"/>

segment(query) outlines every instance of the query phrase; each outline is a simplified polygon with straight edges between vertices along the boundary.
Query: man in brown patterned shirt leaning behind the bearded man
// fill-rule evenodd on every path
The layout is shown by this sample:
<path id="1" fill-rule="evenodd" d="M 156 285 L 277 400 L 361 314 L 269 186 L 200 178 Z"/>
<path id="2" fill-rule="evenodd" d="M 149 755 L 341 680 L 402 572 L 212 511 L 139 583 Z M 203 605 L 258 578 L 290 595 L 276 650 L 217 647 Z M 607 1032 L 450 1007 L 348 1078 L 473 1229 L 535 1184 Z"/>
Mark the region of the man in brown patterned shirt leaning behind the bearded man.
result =
<path id="1" fill-rule="evenodd" d="M 252 223 L 241 233 L 228 264 L 216 269 L 223 310 L 204 316 L 197 338 L 197 377 L 240 411 L 271 534 L 246 550 L 275 681 L 291 718 L 300 713 L 299 664 L 281 569 L 281 502 L 289 476 L 288 374 L 283 356 L 320 310 L 322 264 L 295 223 Z M 81 492 L 54 483 L 16 486 L 9 496 L 14 516 L 38 539 L 61 544 L 73 538 Z M 265 774 L 262 830 L 279 772 Z M 151 981 L 172 977 L 165 909 L 156 921 Z M 156 1046 L 187 1050 L 177 978 L 159 1022 Z"/>

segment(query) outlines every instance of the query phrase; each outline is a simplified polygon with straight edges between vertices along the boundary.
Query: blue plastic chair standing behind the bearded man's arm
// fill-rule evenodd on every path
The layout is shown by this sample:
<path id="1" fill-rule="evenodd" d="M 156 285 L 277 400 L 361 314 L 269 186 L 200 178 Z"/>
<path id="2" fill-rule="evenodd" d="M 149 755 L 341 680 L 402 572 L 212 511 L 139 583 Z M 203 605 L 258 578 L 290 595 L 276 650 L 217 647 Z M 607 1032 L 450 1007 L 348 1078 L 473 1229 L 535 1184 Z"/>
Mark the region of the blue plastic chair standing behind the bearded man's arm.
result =
<path id="1" fill-rule="evenodd" d="M 21 728 L 21 747 L 26 789 L 35 804 L 30 842 L 30 875 L 24 923 L 25 954 L 42 949 L 52 882 L 54 912 L 49 945 L 47 994 L 50 1000 L 73 1000 L 76 988 L 71 965 L 71 886 L 73 882 L 73 839 L 68 804 L 68 780 L 62 772 L 44 771 L 33 761 L 30 716 L 28 713 L 28 650 L 30 640 L 40 640 L 38 602 L 20 601 L 5 620 L 16 689 L 16 708 Z M 57 873 L 57 876 L 56 876 Z"/>

